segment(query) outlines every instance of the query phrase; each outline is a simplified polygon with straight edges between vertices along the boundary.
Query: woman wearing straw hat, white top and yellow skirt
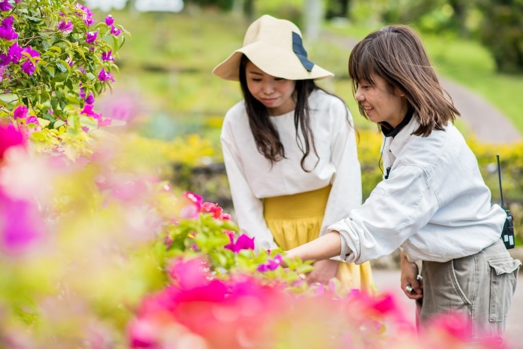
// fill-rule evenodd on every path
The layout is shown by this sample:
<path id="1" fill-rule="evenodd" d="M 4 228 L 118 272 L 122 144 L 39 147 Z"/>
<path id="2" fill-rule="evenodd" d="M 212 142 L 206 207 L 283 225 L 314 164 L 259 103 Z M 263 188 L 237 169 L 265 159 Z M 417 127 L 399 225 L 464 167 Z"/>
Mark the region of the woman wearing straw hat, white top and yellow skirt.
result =
<path id="1" fill-rule="evenodd" d="M 213 73 L 242 88 L 221 143 L 238 225 L 258 249 L 304 244 L 360 206 L 352 117 L 343 100 L 315 84 L 333 74 L 307 58 L 297 26 L 261 16 Z M 345 289 L 373 288 L 369 263 L 334 258 L 314 267 L 310 283 L 336 276 Z"/>

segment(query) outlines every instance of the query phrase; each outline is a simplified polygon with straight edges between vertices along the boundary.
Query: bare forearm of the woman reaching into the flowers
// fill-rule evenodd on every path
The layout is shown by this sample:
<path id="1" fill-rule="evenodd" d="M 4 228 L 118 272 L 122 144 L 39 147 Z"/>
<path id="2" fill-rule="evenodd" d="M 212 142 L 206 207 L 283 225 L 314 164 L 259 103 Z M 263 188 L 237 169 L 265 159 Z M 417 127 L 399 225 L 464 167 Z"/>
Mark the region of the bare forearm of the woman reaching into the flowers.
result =
<path id="1" fill-rule="evenodd" d="M 302 261 L 321 261 L 339 256 L 341 249 L 340 234 L 337 231 L 331 231 L 320 238 L 289 250 L 287 256 L 290 258 L 299 257 Z"/>

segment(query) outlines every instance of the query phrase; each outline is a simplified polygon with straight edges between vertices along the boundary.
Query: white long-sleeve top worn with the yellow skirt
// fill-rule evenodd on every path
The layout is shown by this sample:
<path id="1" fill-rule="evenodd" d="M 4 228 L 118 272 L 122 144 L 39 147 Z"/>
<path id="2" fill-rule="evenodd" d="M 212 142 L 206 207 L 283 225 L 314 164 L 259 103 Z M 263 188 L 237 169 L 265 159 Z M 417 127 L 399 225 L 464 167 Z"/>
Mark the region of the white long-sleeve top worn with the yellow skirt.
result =
<path id="1" fill-rule="evenodd" d="M 277 246 L 263 217 L 263 198 L 309 192 L 332 184 L 320 235 L 326 233 L 329 224 L 361 205 L 361 170 L 350 112 L 342 100 L 321 90 L 311 93 L 309 106 L 320 157 L 311 172 L 303 171 L 300 165 L 303 153 L 296 142 L 294 111 L 270 117 L 286 156 L 272 165 L 256 148 L 244 101 L 225 115 L 221 143 L 236 219 L 244 233 L 255 237 L 259 249 Z M 298 134 L 301 136 L 300 130 Z M 316 161 L 311 150 L 305 168 L 312 169 Z"/>

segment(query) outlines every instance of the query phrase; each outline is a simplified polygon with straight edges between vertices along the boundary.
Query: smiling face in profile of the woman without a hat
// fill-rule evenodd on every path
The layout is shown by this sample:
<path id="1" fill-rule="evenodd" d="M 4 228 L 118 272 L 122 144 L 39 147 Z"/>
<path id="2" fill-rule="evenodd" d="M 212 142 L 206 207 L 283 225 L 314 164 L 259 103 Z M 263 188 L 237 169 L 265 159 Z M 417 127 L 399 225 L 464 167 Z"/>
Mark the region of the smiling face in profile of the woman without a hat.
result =
<path id="1" fill-rule="evenodd" d="M 370 121 L 388 122 L 396 127 L 408 111 L 405 95 L 396 87 L 391 93 L 381 76 L 373 74 L 372 80 L 374 83 L 358 81 L 354 98 L 365 109 Z"/>

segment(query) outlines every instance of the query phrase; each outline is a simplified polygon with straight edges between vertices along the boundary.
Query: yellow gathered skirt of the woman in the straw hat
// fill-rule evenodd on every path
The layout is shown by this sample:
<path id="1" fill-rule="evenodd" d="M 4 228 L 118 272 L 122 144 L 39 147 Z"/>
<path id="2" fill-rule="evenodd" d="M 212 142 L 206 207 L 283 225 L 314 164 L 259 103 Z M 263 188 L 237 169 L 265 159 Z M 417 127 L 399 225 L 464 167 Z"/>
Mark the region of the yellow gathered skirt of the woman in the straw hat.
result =
<path id="1" fill-rule="evenodd" d="M 311 192 L 264 199 L 265 221 L 283 250 L 319 237 L 330 192 L 329 185 Z M 336 278 L 344 290 L 357 288 L 373 293 L 376 289 L 369 262 L 360 265 L 339 262 Z"/>

